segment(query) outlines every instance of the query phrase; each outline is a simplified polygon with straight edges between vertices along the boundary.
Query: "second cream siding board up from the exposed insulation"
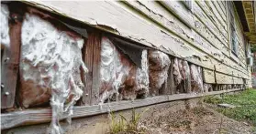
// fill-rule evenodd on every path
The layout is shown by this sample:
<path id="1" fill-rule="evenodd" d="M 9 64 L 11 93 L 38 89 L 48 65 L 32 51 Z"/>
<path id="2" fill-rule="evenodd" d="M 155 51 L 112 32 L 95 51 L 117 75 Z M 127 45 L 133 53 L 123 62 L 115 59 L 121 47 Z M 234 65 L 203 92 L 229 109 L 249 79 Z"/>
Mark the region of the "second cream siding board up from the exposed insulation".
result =
<path id="1" fill-rule="evenodd" d="M 140 2 L 129 1 L 129 2 L 127 2 L 127 4 L 132 6 L 139 12 L 141 12 L 141 14 L 148 15 L 154 21 L 159 22 L 166 28 L 169 28 L 173 33 L 177 34 L 178 36 L 181 36 L 184 40 L 190 42 L 191 37 L 189 37 L 189 35 L 191 34 L 191 32 L 187 32 L 187 31 L 189 31 L 189 30 L 187 30 L 187 27 L 182 26 L 182 22 L 179 22 L 179 20 L 175 19 L 175 17 L 173 15 L 170 15 L 169 13 L 164 12 L 164 10 L 162 10 L 162 6 L 159 5 L 158 3 L 146 2 L 146 1 L 140 1 Z M 170 21 L 173 22 L 172 26 L 165 25 L 165 24 L 167 24 L 167 22 L 170 22 Z M 173 28 L 173 27 L 177 27 L 177 26 L 179 26 L 179 27 Z M 198 25 L 197 25 L 197 27 L 198 27 Z M 205 29 L 206 28 L 202 28 L 202 30 L 205 30 Z M 180 33 L 179 31 L 183 31 L 183 33 Z M 221 52 L 213 46 L 221 44 L 221 43 L 216 42 L 216 44 L 210 45 L 209 43 L 212 40 L 209 38 L 209 36 L 206 36 L 206 38 L 208 40 L 202 38 L 202 35 L 207 35 L 208 32 L 202 33 L 204 31 L 199 31 L 199 30 L 198 31 L 196 30 L 196 32 L 198 32 L 198 33 L 192 32 L 192 35 L 194 36 L 194 40 L 195 40 L 195 42 L 192 42 L 193 45 L 202 49 L 204 52 L 206 52 L 209 55 L 212 55 L 213 57 L 215 57 L 217 55 L 216 59 L 221 59 L 221 60 L 223 59 L 224 62 L 227 63 L 227 65 L 237 66 L 237 64 L 234 63 L 233 61 L 231 61 L 228 57 L 225 57 L 225 56 L 219 57 L 218 56 L 218 55 L 221 55 Z M 216 37 L 214 35 L 212 35 L 212 38 L 216 39 Z M 209 43 L 207 41 L 209 41 Z M 222 50 L 222 52 L 224 52 L 223 50 L 226 50 L 225 53 L 228 56 L 229 50 L 227 47 L 225 47 L 224 45 L 218 46 L 218 49 Z M 223 66 L 222 66 L 222 68 L 225 69 L 225 67 L 223 67 Z M 230 69 L 232 69 L 232 68 L 230 68 Z M 226 73 L 226 71 L 222 71 L 222 70 L 219 70 L 219 71 Z"/>

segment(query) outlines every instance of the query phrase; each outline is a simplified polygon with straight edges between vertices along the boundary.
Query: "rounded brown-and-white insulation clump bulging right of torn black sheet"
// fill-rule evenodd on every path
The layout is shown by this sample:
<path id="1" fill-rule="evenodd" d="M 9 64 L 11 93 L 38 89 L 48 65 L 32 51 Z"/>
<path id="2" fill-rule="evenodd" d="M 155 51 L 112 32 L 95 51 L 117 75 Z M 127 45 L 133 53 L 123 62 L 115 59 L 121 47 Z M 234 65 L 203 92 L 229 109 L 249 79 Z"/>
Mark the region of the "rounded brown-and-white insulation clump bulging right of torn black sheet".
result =
<path id="1" fill-rule="evenodd" d="M 150 94 L 158 95 L 162 84 L 166 82 L 168 77 L 168 69 L 171 60 L 168 55 L 158 50 L 149 50 L 150 62 Z"/>

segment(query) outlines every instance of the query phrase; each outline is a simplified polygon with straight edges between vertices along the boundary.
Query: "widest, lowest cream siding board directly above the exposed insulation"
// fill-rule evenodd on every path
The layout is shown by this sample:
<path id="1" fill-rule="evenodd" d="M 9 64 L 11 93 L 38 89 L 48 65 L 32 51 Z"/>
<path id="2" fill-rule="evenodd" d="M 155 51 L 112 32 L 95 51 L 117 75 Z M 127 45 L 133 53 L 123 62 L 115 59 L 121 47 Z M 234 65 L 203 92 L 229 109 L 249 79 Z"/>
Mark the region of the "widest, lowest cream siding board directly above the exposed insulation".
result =
<path id="1" fill-rule="evenodd" d="M 212 68 L 211 66 L 213 64 L 218 64 L 217 61 L 210 63 L 210 60 L 213 60 L 212 57 L 207 61 L 203 59 L 204 62 L 202 60 L 198 60 L 198 58 L 194 58 L 194 56 L 204 58 L 206 54 L 202 53 L 202 51 L 198 51 L 196 46 L 191 46 L 186 40 L 179 36 L 175 36 L 173 32 L 162 28 L 159 23 L 153 23 L 155 20 L 149 19 L 149 17 L 145 17 L 142 14 L 138 14 L 141 12 L 135 11 L 128 7 L 128 5 L 124 5 L 122 2 L 95 2 L 86 4 L 84 2 L 79 2 L 80 5 L 77 5 L 73 2 L 59 3 L 44 1 L 37 2 L 36 4 L 35 2 L 29 2 L 29 4 L 50 10 L 51 12 L 58 13 L 59 15 L 63 15 L 62 13 L 64 13 L 69 17 L 103 29 L 107 32 L 127 37 L 146 46 L 161 49 L 161 51 L 169 53 L 175 57 L 189 57 L 191 62 L 196 65 L 199 64 L 202 67 Z M 73 6 L 76 8 L 72 8 Z M 181 6 L 181 8 L 183 7 Z M 83 12 L 83 14 L 80 14 L 81 12 Z M 126 25 L 127 23 L 129 25 Z M 172 20 L 170 23 L 172 23 Z M 221 41 L 221 39 L 219 40 Z M 214 46 L 217 45 L 218 43 L 214 43 Z M 224 49 L 223 47 L 219 48 Z M 228 57 L 219 56 L 217 59 L 223 59 L 225 66 L 230 66 L 232 69 L 243 71 L 245 74 L 248 73 L 248 71 L 242 67 L 235 67 L 237 64 L 232 60 L 229 60 Z M 227 70 L 222 71 L 222 73 L 225 73 L 226 71 Z M 245 75 L 243 75 L 243 77 L 248 78 L 248 76 Z"/>

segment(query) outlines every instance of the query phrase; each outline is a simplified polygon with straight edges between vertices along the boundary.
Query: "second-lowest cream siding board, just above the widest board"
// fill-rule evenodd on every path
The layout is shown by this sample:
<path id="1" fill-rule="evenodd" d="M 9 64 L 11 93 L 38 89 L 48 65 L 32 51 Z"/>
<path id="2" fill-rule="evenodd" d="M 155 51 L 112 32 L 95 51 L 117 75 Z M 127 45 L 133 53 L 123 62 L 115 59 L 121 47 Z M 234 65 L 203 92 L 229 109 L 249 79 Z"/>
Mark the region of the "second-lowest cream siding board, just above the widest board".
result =
<path id="1" fill-rule="evenodd" d="M 211 56 L 216 58 L 216 60 L 218 60 L 219 57 L 218 55 L 217 57 L 215 57 L 214 54 L 221 53 L 219 52 L 219 50 L 221 50 L 226 55 L 225 58 L 222 58 L 224 59 L 224 63 L 226 65 L 219 64 L 219 62 L 215 61 L 215 59 L 211 59 L 212 62 L 214 62 L 214 64 L 219 64 L 218 68 L 220 69 L 218 70 L 217 68 L 218 71 L 222 73 L 227 73 L 227 70 L 232 70 L 233 68 L 228 67 L 228 69 L 225 69 L 227 68 L 225 66 L 236 65 L 233 63 L 233 61 L 229 60 L 228 58 L 229 57 L 228 47 L 225 47 L 224 45 L 218 46 L 221 43 L 213 41 L 213 39 L 217 41 L 217 38 L 214 35 L 205 36 L 209 34 L 209 32 L 206 32 L 205 30 L 206 28 L 195 27 L 195 31 L 198 33 L 194 32 L 193 36 L 194 36 L 195 42 L 192 42 L 190 40 L 191 32 L 187 31 L 186 26 L 182 25 L 182 22 L 180 22 L 179 20 L 176 20 L 176 18 L 173 15 L 170 15 L 169 13 L 164 12 L 161 5 L 158 5 L 155 2 L 144 2 L 144 1 L 139 1 L 139 2 L 129 1 L 129 2 L 125 2 L 125 4 L 127 4 L 128 6 L 131 6 L 135 10 L 138 10 L 139 13 L 145 16 L 148 16 L 150 19 L 154 20 L 155 22 L 158 22 L 159 25 L 164 26 L 166 29 L 171 30 L 177 36 L 180 36 L 187 42 L 191 43 L 193 46 L 202 49 L 206 54 L 212 54 Z M 173 23 L 170 24 L 171 21 Z M 181 31 L 183 32 L 181 33 Z M 217 50 L 217 48 L 215 48 L 214 46 L 217 46 L 219 50 Z"/>

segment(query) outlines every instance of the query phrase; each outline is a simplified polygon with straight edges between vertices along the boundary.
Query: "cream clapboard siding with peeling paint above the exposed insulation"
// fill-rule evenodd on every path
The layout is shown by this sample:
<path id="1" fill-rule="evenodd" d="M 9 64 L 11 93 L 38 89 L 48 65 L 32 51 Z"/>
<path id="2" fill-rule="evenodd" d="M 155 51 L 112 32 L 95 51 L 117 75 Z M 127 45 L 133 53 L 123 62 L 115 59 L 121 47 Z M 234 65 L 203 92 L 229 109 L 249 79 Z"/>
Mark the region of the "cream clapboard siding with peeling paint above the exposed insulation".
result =
<path id="1" fill-rule="evenodd" d="M 212 72 L 205 74 L 205 79 L 221 79 L 216 84 L 243 84 L 242 78 L 250 80 L 245 56 L 247 44 L 237 11 L 234 16 L 237 56 L 231 52 L 228 2 L 193 1 L 191 8 L 182 1 L 28 4 L 184 58 Z M 205 82 L 215 83 L 214 80 Z"/>

